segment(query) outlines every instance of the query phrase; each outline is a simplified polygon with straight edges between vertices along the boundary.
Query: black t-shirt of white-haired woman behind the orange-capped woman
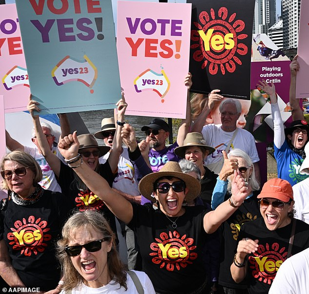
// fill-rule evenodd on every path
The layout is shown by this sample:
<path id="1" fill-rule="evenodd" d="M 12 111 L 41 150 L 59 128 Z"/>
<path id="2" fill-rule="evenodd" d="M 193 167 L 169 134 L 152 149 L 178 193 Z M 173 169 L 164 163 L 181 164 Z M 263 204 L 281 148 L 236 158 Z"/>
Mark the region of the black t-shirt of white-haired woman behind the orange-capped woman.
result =
<path id="1" fill-rule="evenodd" d="M 245 279 L 240 283 L 235 283 L 231 275 L 231 264 L 237 248 L 237 237 L 240 227 L 247 221 L 253 221 L 261 217 L 260 208 L 256 196 L 259 192 L 254 191 L 253 196 L 246 199 L 242 205 L 225 221 L 222 228 L 222 253 L 219 272 L 219 284 L 234 289 L 248 288 L 248 281 Z M 231 196 L 227 193 L 225 200 Z"/>

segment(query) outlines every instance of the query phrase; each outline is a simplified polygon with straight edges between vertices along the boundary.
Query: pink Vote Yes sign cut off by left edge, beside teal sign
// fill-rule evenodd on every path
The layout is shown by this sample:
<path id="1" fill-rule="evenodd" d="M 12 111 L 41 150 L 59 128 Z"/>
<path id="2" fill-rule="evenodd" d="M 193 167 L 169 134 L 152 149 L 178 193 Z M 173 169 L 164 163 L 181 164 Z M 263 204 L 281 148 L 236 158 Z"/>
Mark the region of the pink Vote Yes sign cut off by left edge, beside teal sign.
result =
<path id="1" fill-rule="evenodd" d="M 0 94 L 5 112 L 27 110 L 29 79 L 15 4 L 0 9 Z"/>

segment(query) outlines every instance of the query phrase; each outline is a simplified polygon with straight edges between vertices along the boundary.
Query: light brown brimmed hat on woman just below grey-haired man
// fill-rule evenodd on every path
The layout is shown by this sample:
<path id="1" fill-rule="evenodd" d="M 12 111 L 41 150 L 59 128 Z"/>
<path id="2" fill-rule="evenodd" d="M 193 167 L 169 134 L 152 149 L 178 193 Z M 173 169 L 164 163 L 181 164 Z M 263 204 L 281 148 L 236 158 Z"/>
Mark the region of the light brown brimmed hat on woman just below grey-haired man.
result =
<path id="1" fill-rule="evenodd" d="M 174 153 L 181 158 L 185 158 L 186 149 L 193 146 L 200 147 L 204 151 L 208 150 L 208 155 L 215 151 L 215 148 L 206 145 L 206 141 L 201 133 L 192 132 L 187 134 L 186 139 L 183 141 L 183 146 L 174 149 Z"/>

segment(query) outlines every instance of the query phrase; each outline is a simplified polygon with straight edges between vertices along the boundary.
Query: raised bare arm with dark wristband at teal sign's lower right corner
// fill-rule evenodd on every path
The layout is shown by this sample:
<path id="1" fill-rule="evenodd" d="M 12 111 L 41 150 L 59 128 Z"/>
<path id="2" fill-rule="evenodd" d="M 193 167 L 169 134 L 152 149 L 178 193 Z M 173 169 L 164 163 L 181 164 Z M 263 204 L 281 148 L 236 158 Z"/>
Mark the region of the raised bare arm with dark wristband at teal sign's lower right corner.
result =
<path id="1" fill-rule="evenodd" d="M 117 121 L 119 123 L 124 122 L 124 113 L 125 113 L 126 108 L 128 106 L 125 99 L 124 99 L 123 92 L 122 92 L 122 98 L 116 103 L 116 106 L 117 106 L 117 114 L 115 114 L 116 132 L 115 132 L 115 136 L 114 136 L 114 139 L 113 139 L 113 147 L 112 147 L 112 150 L 111 150 L 111 154 L 108 157 L 108 163 L 111 166 L 111 169 L 114 173 L 117 171 L 119 156 L 120 156 L 121 150 L 122 150 L 122 146 L 121 146 L 122 145 L 122 139 L 121 139 L 122 126 L 118 125 Z"/>

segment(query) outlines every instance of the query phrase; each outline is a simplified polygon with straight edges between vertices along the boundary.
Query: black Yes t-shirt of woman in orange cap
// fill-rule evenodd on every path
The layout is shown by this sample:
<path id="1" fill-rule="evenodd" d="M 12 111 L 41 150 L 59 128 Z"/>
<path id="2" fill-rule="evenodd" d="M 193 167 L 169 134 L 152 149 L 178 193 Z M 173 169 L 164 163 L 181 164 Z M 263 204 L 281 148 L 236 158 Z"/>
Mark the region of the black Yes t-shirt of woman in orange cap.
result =
<path id="1" fill-rule="evenodd" d="M 292 255 L 309 247 L 309 224 L 296 221 Z M 258 250 L 247 255 L 250 294 L 267 294 L 283 261 L 287 259 L 292 224 L 270 231 L 263 218 L 246 222 L 240 228 L 238 239 L 258 239 Z"/>

